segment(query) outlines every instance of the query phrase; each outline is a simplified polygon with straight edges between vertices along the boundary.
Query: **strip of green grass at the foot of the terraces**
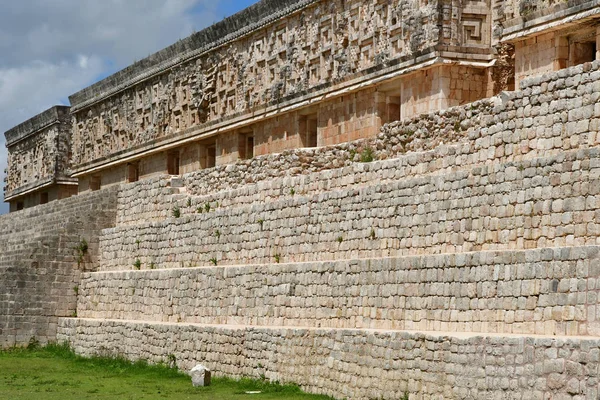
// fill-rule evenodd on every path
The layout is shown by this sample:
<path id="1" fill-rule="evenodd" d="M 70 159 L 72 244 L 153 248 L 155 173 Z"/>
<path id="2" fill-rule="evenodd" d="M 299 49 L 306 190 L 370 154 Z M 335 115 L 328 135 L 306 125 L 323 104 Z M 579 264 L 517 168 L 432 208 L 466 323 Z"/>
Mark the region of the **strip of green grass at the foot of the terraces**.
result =
<path id="1" fill-rule="evenodd" d="M 246 394 L 260 391 L 261 394 Z M 164 365 L 124 359 L 75 355 L 67 346 L 0 351 L 0 399 L 292 399 L 326 400 L 302 393 L 294 385 L 213 378 L 207 388 Z"/>

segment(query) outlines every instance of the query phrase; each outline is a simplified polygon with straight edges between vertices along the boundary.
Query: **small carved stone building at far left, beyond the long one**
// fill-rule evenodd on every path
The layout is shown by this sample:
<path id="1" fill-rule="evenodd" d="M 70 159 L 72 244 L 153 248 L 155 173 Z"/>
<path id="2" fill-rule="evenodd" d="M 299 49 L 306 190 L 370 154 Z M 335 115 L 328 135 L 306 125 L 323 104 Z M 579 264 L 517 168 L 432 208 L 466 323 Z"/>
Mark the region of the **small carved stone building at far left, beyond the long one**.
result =
<path id="1" fill-rule="evenodd" d="M 5 133 L 8 168 L 4 201 L 10 210 L 77 194 L 70 177 L 71 115 L 56 106 Z"/>

